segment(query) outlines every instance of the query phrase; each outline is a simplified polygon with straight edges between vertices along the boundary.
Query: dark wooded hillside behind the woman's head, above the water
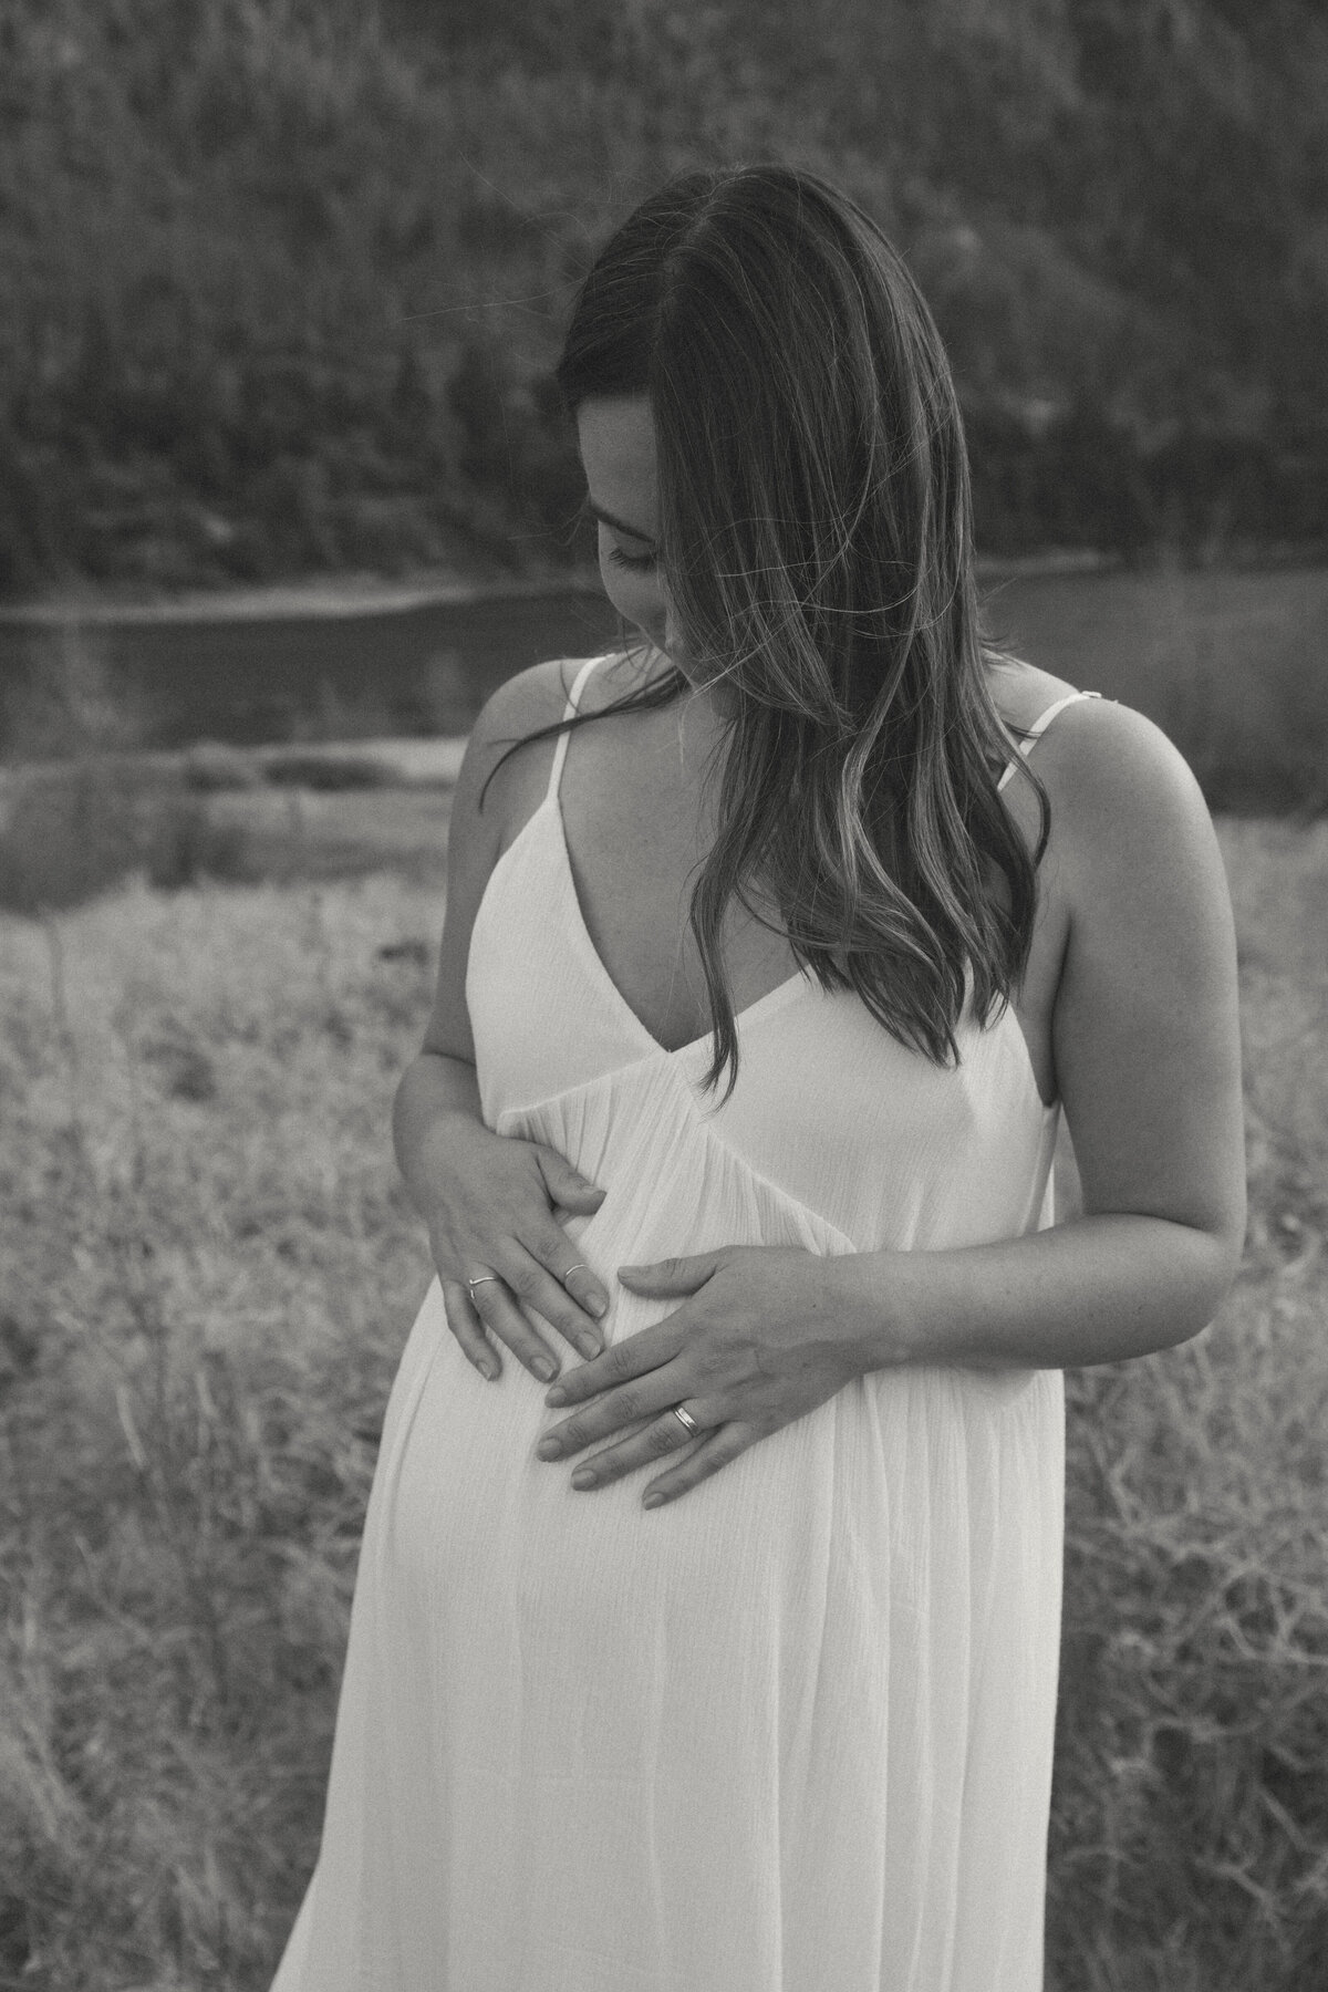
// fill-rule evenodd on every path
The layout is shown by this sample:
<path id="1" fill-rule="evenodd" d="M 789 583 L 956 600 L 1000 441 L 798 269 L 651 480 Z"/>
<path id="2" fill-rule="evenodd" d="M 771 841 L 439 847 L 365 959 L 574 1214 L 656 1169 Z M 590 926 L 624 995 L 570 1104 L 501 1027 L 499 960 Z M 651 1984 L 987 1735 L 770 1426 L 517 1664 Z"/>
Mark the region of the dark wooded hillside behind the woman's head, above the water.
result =
<path id="1" fill-rule="evenodd" d="M 1310 0 L 6 0 L 0 592 L 583 560 L 575 283 L 773 155 L 910 255 L 986 552 L 1328 534 Z"/>

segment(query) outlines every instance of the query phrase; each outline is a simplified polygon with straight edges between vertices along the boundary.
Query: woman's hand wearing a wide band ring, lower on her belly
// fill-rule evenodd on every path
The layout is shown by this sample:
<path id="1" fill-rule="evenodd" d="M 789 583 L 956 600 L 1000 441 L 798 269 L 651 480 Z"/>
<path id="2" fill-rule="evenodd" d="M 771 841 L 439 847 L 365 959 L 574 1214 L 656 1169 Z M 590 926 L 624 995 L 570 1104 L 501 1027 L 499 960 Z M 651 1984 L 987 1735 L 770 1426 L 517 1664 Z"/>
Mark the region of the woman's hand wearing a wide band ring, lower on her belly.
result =
<path id="1" fill-rule="evenodd" d="M 820 1253 L 776 1245 L 727 1245 L 691 1259 L 619 1267 L 617 1277 L 633 1293 L 677 1295 L 683 1305 L 557 1378 L 546 1402 L 557 1390 L 567 1404 L 595 1402 L 546 1432 L 540 1458 L 567 1458 L 649 1418 L 643 1430 L 577 1468 L 573 1486 L 587 1470 L 593 1480 L 585 1484 L 603 1486 L 689 1448 L 643 1496 L 649 1506 L 655 1496 L 677 1500 L 862 1374 L 834 1267 Z M 697 1438 L 673 1416 L 675 1404 L 697 1420 Z M 553 1442 L 555 1452 L 548 1450 Z"/>

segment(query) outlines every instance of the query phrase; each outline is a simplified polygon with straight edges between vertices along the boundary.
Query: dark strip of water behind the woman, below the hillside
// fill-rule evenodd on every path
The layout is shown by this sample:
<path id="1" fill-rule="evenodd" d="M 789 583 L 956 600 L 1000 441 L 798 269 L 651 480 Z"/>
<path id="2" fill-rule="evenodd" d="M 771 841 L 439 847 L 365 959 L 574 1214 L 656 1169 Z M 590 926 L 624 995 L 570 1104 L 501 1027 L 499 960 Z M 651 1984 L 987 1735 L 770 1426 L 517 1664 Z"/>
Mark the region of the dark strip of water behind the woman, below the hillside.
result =
<path id="1" fill-rule="evenodd" d="M 1328 807 L 1328 570 L 988 574 L 997 639 L 1121 699 L 1181 747 L 1217 809 Z M 609 649 L 597 586 L 466 590 L 346 608 L 265 602 L 0 616 L 0 759 L 468 733 L 546 657 Z"/>

